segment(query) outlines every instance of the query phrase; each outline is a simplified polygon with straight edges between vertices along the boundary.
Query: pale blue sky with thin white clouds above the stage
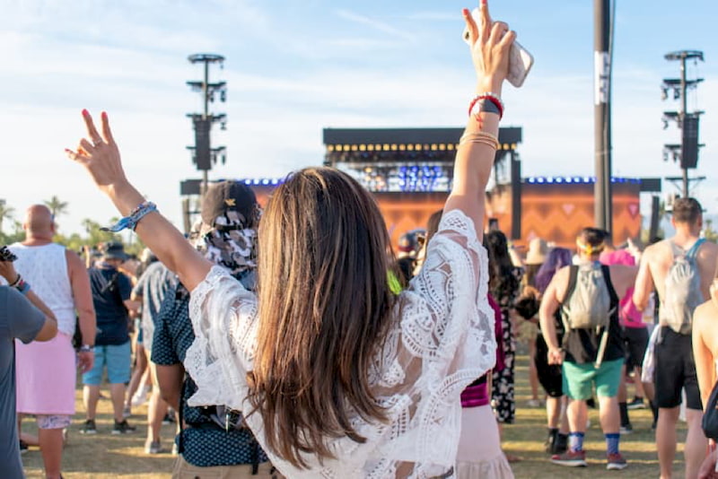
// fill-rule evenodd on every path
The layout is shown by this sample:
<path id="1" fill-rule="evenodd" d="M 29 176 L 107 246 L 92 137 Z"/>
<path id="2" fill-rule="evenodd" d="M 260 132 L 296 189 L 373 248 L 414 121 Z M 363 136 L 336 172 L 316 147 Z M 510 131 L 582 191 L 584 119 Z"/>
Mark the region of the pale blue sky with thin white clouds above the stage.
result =
<path id="1" fill-rule="evenodd" d="M 179 184 L 198 178 L 185 146 L 185 113 L 198 111 L 187 80 L 200 78 L 189 54 L 227 58 L 213 77 L 228 83 L 227 164 L 211 178 L 275 177 L 322 161 L 321 129 L 460 126 L 474 74 L 460 39 L 463 1 L 0 0 L 0 110 L 4 179 L 0 198 L 18 213 L 57 195 L 69 202 L 61 231 L 115 215 L 63 148 L 83 135 L 83 108 L 109 112 L 127 174 L 180 224 Z M 495 0 L 536 58 L 521 90 L 504 88 L 504 126 L 522 126 L 523 172 L 593 172 L 592 2 Z M 662 161 L 663 77 L 679 74 L 663 55 L 701 49 L 705 77 L 690 109 L 705 109 L 696 196 L 718 212 L 718 4 L 617 0 L 613 161 L 617 176 L 679 175 Z M 674 191 L 665 185 L 665 191 Z M 644 212 L 647 213 L 647 212 Z M 8 226 L 5 226 L 9 229 Z"/>

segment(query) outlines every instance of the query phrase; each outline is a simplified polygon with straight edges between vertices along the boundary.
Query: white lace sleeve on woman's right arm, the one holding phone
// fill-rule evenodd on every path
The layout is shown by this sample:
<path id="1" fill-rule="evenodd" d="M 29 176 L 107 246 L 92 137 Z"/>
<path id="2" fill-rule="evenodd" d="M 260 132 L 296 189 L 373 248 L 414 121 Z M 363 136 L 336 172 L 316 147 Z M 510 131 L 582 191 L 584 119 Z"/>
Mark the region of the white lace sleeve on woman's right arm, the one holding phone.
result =
<path id="1" fill-rule="evenodd" d="M 480 376 L 495 361 L 494 312 L 487 292 L 486 250 L 471 219 L 453 210 L 443 216 L 402 304 L 404 346 L 412 356 L 441 363 L 445 373 L 472 370 Z"/>

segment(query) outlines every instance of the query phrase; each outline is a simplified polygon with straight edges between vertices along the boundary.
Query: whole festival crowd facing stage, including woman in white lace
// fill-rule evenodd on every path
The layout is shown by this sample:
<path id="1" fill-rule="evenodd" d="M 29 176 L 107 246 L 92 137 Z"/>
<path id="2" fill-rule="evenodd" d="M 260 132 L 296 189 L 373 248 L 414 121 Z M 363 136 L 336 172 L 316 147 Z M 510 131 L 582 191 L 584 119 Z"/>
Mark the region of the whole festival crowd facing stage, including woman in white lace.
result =
<path id="1" fill-rule="evenodd" d="M 675 234 L 643 251 L 586 227 L 574 250 L 531 239 L 521 257 L 485 231 L 480 192 L 515 33 L 486 1 L 478 24 L 464 18 L 477 91 L 453 189 L 398 257 L 372 196 L 329 168 L 293 172 L 264 210 L 250 187 L 218 183 L 186 237 L 127 180 L 107 114 L 98 131 L 83 110 L 87 135 L 66 152 L 118 208 L 111 229 L 135 231 L 148 250 L 137 269 L 117 242 L 82 258 L 53 242 L 52 214 L 34 205 L 25 240 L 0 251 L 0 476 L 23 477 L 30 443 L 46 477 L 62 477 L 79 370 L 83 434 L 105 432 L 103 379 L 112 434 L 136 431 L 127 418 L 152 391 L 145 452 L 172 442 L 173 477 L 512 478 L 520 458 L 501 438 L 516 418 L 523 338 L 548 461 L 588 466 L 593 402 L 606 468 L 624 469 L 621 433 L 645 399 L 661 478 L 672 475 L 681 405 L 686 477 L 718 477 L 702 428 L 718 376 L 718 246 L 700 237 L 701 205 L 677 200 Z M 175 413 L 177 436 L 162 442 Z M 37 438 L 20 433 L 23 416 Z"/>

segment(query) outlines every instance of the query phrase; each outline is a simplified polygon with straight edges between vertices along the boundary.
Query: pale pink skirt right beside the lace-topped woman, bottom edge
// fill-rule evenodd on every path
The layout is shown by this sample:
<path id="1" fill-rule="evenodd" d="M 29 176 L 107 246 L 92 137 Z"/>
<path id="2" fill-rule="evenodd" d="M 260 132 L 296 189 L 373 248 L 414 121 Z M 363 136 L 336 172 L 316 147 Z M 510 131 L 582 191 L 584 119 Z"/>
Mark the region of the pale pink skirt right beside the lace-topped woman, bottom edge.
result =
<path id="1" fill-rule="evenodd" d="M 490 405 L 461 409 L 457 479 L 513 479 Z"/>

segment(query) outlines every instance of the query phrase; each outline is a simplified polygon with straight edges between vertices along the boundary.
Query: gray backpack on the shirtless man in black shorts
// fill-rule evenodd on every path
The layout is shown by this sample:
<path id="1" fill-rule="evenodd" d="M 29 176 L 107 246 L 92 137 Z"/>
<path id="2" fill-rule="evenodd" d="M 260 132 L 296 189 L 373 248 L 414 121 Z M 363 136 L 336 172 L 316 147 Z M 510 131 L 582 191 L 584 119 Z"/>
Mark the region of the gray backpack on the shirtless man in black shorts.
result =
<path id="1" fill-rule="evenodd" d="M 687 251 L 670 241 L 673 264 L 666 274 L 659 317 L 662 326 L 668 326 L 681 335 L 690 334 L 693 311 L 704 301 L 701 275 L 696 263 L 698 248 L 704 241 L 703 238 L 697 240 Z"/>

